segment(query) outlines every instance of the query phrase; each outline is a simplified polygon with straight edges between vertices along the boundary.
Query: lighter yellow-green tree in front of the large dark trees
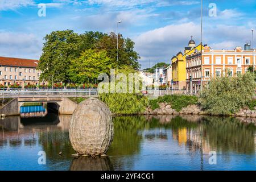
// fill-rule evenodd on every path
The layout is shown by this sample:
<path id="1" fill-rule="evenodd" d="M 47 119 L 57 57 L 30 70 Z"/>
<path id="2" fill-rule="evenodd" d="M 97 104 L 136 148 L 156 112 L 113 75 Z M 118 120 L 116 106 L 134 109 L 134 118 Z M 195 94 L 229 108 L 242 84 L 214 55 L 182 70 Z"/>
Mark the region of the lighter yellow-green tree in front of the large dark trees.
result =
<path id="1" fill-rule="evenodd" d="M 94 82 L 100 73 L 110 74 L 110 69 L 115 67 L 115 63 L 107 56 L 106 51 L 97 52 L 88 49 L 82 52 L 81 56 L 71 61 L 69 77 L 72 82 L 82 84 Z"/>

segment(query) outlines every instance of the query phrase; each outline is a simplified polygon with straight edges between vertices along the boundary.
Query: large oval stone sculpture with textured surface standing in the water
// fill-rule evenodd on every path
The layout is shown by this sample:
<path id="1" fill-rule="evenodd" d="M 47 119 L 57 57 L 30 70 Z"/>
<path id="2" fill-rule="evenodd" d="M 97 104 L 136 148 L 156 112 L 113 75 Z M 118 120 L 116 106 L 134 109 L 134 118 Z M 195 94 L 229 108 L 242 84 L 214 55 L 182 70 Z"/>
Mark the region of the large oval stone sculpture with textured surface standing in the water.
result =
<path id="1" fill-rule="evenodd" d="M 79 155 L 105 155 L 113 134 L 112 115 L 104 102 L 88 99 L 77 106 L 69 123 L 69 139 Z"/>

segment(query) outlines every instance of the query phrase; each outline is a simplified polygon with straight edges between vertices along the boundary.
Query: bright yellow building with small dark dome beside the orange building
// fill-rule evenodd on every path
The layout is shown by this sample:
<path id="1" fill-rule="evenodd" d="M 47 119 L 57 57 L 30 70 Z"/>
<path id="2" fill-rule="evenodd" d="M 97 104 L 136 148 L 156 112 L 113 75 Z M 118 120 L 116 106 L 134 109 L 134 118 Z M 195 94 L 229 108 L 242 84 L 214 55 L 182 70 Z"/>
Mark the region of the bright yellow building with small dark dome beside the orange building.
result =
<path id="1" fill-rule="evenodd" d="M 203 47 L 204 48 L 204 47 Z M 182 52 L 177 53 L 176 56 L 172 57 L 172 88 L 174 89 L 185 89 L 187 70 L 186 70 L 186 56 L 192 52 L 201 51 L 201 44 L 195 46 L 195 41 L 192 39 L 188 42 L 188 47 L 185 47 L 184 54 Z"/>

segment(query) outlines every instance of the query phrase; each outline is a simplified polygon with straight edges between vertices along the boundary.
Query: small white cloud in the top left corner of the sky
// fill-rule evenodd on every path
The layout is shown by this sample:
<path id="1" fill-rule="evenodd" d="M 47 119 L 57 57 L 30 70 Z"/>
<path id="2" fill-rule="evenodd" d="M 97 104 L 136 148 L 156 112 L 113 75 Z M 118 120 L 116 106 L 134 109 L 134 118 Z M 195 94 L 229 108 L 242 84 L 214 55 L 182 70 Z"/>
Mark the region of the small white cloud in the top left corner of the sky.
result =
<path id="1" fill-rule="evenodd" d="M 2 10 L 15 10 L 20 7 L 26 7 L 30 5 L 35 5 L 33 0 L 1 0 L 0 1 L 0 11 Z"/>

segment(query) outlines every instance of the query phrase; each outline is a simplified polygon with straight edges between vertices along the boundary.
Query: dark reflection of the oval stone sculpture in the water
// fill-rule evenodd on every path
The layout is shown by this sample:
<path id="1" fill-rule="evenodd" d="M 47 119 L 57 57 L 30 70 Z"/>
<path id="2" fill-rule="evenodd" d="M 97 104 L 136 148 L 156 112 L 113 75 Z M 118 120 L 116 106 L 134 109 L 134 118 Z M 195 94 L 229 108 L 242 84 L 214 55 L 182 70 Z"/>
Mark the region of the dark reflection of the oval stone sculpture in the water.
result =
<path id="1" fill-rule="evenodd" d="M 106 158 L 74 158 L 70 167 L 71 171 L 112 171 L 113 166 Z"/>

